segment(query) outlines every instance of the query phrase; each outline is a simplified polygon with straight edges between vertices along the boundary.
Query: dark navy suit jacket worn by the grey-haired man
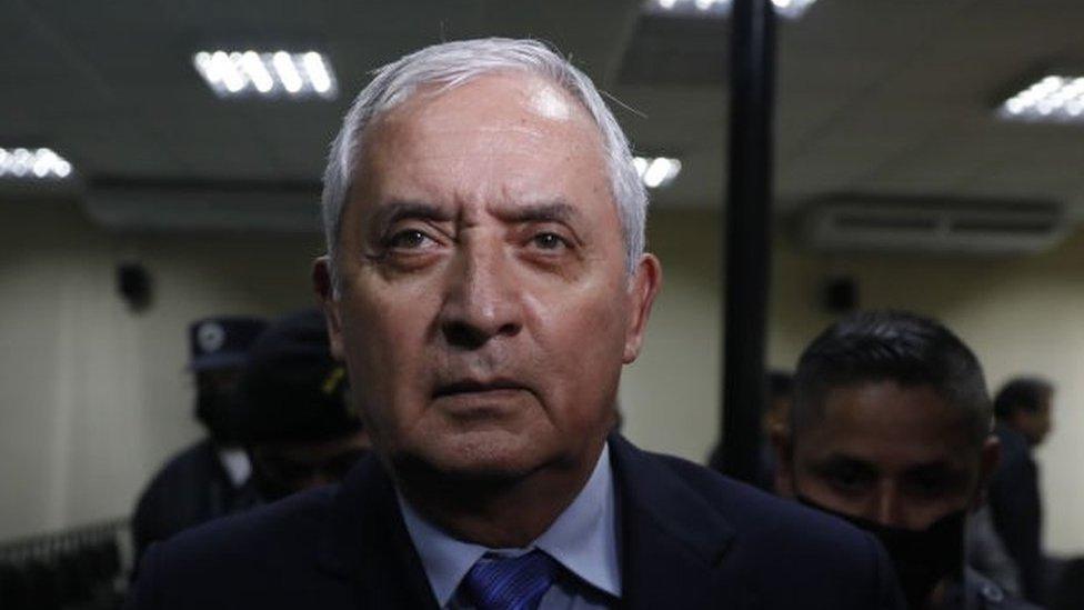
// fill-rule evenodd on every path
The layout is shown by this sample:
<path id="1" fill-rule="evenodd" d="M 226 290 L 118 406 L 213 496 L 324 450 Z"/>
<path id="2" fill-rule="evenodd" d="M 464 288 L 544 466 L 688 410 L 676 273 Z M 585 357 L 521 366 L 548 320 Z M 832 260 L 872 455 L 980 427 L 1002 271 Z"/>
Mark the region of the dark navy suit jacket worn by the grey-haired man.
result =
<path id="1" fill-rule="evenodd" d="M 902 608 L 874 539 L 705 468 L 610 438 L 623 608 Z M 373 457 L 294 496 L 152 547 L 133 608 L 435 609 Z"/>

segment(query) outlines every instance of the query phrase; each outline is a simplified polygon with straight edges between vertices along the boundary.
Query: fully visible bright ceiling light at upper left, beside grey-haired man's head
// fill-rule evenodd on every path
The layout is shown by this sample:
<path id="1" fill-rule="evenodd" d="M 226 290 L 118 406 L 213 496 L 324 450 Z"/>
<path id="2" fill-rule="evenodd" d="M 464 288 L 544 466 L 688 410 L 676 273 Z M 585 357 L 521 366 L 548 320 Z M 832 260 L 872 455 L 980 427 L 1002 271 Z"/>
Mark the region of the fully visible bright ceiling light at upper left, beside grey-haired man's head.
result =
<path id="1" fill-rule="evenodd" d="M 331 63 L 315 51 L 200 51 L 192 63 L 221 98 L 323 98 L 339 94 Z"/>

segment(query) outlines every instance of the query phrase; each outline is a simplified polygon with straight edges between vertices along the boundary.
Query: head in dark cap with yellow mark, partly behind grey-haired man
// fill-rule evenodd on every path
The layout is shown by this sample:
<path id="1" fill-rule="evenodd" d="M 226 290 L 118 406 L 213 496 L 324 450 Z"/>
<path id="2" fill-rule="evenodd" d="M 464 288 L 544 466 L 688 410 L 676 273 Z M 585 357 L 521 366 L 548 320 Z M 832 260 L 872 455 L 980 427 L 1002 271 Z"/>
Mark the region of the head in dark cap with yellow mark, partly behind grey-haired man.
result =
<path id="1" fill-rule="evenodd" d="M 315 309 L 285 316 L 260 336 L 240 394 L 238 430 L 261 501 L 339 482 L 369 450 Z"/>

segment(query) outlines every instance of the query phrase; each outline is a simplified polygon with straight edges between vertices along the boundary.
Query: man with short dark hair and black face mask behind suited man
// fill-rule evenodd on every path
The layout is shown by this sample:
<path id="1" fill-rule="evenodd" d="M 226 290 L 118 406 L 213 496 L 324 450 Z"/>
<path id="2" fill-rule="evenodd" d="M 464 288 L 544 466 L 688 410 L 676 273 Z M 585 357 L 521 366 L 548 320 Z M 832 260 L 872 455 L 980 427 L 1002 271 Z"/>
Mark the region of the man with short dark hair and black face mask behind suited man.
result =
<path id="1" fill-rule="evenodd" d="M 902 312 L 850 316 L 799 362 L 779 488 L 884 543 L 913 610 L 1031 608 L 964 569 L 964 527 L 997 463 L 974 353 Z"/>

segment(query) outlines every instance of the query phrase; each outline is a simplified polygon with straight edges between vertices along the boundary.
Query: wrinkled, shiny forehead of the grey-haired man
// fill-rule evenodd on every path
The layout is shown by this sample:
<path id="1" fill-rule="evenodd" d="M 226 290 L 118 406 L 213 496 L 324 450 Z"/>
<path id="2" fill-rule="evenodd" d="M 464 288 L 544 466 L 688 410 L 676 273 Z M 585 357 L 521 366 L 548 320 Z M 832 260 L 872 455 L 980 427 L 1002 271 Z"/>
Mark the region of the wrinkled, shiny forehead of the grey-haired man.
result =
<path id="1" fill-rule="evenodd" d="M 604 202 L 616 218 L 601 133 L 549 80 L 526 73 L 430 86 L 388 111 L 365 140 L 357 183 L 385 196 L 440 201 Z M 379 194 L 378 194 L 379 193 Z M 359 193 L 360 194 L 360 193 Z"/>

